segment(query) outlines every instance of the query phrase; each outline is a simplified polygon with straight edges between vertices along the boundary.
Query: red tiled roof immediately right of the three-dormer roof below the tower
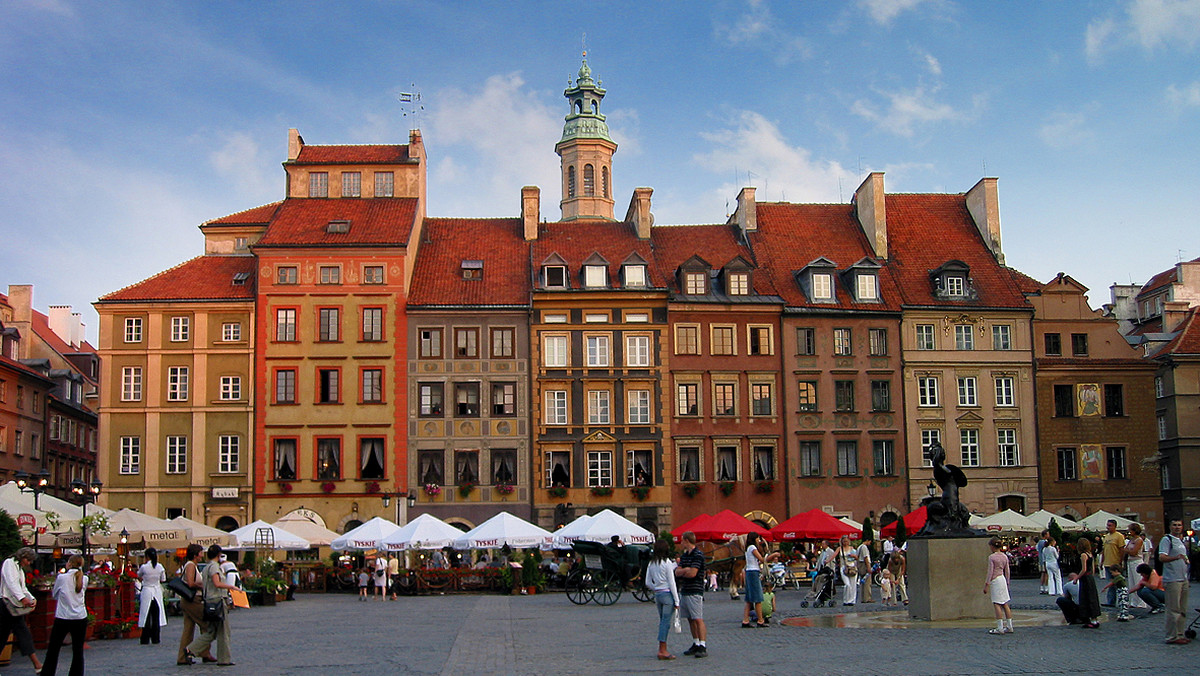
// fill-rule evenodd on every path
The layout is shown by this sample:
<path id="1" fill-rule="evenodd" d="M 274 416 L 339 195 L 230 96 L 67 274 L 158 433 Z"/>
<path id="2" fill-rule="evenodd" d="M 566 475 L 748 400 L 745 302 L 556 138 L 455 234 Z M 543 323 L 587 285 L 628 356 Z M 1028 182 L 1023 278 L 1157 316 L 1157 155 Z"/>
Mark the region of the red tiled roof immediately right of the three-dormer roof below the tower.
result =
<path id="1" fill-rule="evenodd" d="M 650 228 L 654 257 L 667 285 L 679 291 L 676 270 L 692 256 L 700 256 L 714 269 L 724 268 L 737 257 L 755 265 L 754 252 L 738 240 L 738 229 L 731 225 L 715 226 L 659 226 Z M 778 295 L 770 274 L 755 270 L 750 275 L 757 295 Z"/>

